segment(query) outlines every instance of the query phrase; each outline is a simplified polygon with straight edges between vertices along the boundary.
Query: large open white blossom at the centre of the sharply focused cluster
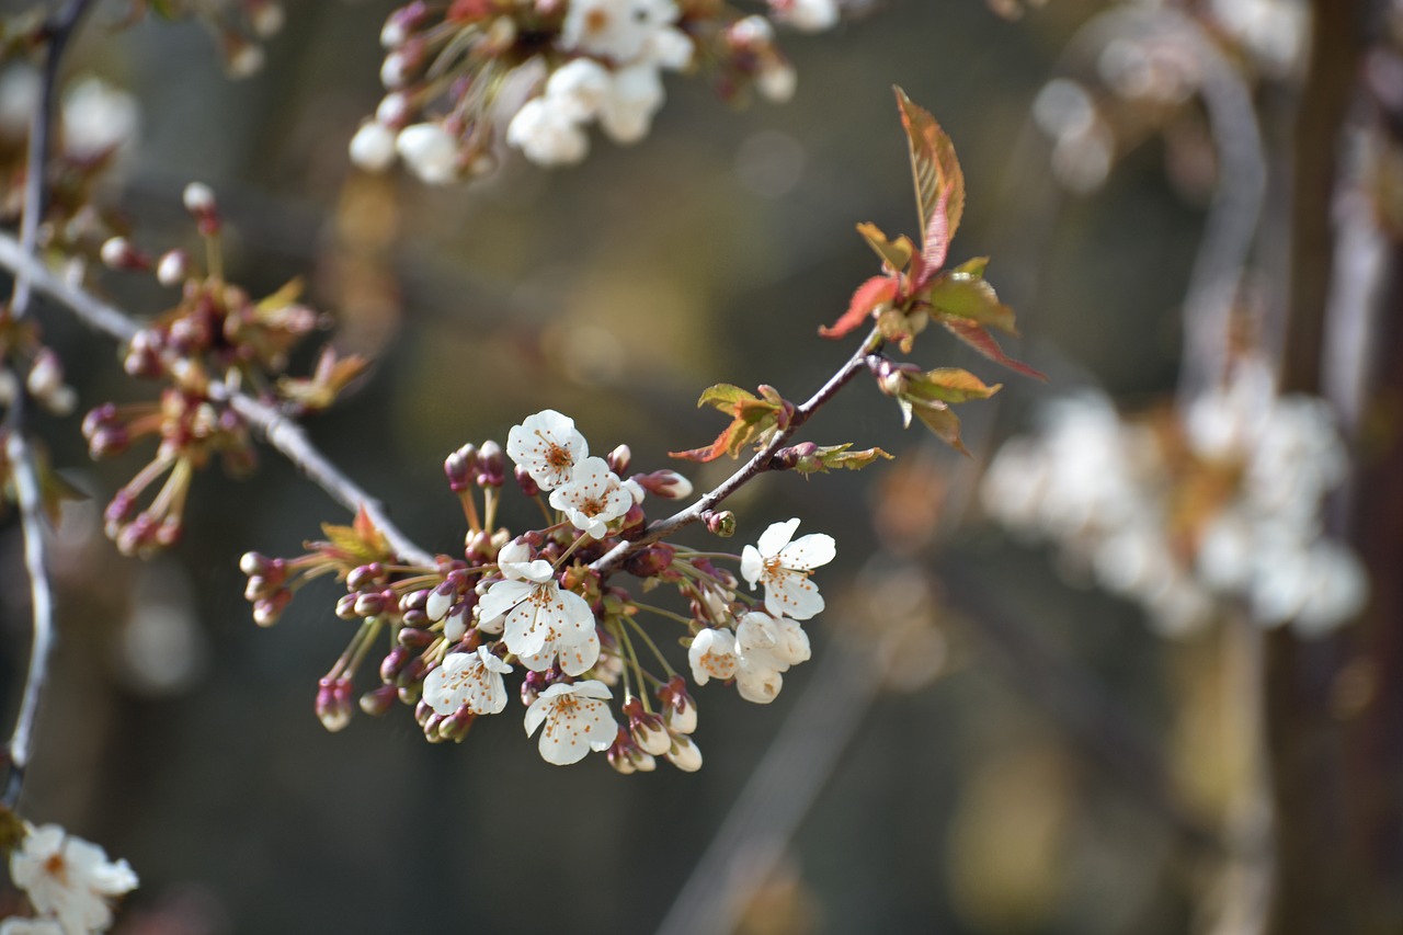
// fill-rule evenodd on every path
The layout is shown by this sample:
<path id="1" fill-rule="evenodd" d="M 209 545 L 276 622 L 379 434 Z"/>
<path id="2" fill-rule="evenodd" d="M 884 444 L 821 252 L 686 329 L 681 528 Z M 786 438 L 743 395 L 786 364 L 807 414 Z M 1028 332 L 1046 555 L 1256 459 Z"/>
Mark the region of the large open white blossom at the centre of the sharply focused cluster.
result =
<path id="1" fill-rule="evenodd" d="M 593 611 L 585 598 L 563 591 L 542 559 L 526 566 L 521 577 L 494 583 L 478 602 L 478 614 L 487 622 L 505 615 L 502 640 L 532 671 L 546 671 L 558 656 L 567 675 L 579 675 L 599 658 Z"/>

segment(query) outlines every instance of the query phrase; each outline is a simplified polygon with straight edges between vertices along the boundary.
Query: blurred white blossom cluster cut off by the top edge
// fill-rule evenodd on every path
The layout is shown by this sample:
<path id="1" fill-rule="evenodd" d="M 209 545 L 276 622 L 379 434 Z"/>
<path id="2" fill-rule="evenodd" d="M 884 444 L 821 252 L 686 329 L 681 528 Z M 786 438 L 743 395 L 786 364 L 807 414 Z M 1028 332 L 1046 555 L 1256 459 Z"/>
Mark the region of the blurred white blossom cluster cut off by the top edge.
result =
<path id="1" fill-rule="evenodd" d="M 351 159 L 372 171 L 401 159 L 435 185 L 488 171 L 498 138 L 540 166 L 578 163 L 591 124 L 616 143 L 648 135 L 665 70 L 704 62 L 728 97 L 753 84 L 787 100 L 773 22 L 817 31 L 838 14 L 838 0 L 770 0 L 748 17 L 711 0 L 415 0 L 384 24 L 389 94 Z"/>

